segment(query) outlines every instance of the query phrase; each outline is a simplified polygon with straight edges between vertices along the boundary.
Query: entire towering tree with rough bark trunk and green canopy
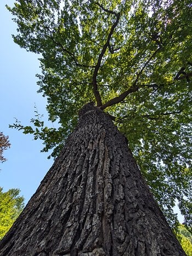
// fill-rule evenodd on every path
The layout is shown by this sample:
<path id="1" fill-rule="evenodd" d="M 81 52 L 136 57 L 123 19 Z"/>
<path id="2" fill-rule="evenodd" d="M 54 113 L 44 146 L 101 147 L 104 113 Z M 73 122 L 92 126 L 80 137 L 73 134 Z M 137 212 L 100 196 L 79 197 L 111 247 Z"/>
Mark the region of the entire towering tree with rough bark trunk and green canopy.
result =
<path id="1" fill-rule="evenodd" d="M 191 3 L 20 0 L 9 10 L 14 41 L 41 53 L 39 92 L 60 123 L 49 129 L 37 114 L 35 129 L 13 127 L 56 156 L 78 110 L 97 107 L 83 107 L 0 255 L 185 255 L 124 135 L 170 223 L 177 199 L 190 226 Z"/>

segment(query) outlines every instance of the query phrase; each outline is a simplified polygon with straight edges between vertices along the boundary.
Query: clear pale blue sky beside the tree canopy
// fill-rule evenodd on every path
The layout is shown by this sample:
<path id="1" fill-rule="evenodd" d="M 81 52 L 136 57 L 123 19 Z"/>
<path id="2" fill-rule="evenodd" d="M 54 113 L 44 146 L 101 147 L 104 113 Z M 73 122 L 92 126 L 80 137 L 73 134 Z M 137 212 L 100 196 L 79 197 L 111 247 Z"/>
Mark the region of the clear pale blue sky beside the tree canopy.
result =
<path id="1" fill-rule="evenodd" d="M 5 4 L 13 6 L 13 3 L 13 0 L 0 1 L 0 131 L 9 136 L 12 144 L 4 151 L 7 161 L 0 164 L 0 187 L 4 191 L 19 188 L 27 203 L 52 166 L 53 159 L 48 160 L 49 154 L 40 153 L 42 141 L 9 128 L 14 118 L 24 125 L 30 124 L 30 119 L 35 116 L 35 105 L 44 115 L 43 120 L 47 119 L 46 99 L 37 94 L 35 75 L 41 73 L 38 56 L 21 49 L 11 36 L 15 34 L 16 24 Z M 180 214 L 179 221 L 183 222 Z"/>

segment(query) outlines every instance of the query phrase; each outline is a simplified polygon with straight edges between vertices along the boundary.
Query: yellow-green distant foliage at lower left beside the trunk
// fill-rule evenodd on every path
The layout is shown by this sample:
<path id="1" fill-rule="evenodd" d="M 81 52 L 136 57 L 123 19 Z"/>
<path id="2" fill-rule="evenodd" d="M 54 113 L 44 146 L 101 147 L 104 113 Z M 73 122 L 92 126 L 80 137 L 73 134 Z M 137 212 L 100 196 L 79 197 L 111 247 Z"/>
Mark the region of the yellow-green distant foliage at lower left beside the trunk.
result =
<path id="1" fill-rule="evenodd" d="M 12 188 L 7 192 L 2 190 L 0 187 L 0 239 L 8 232 L 24 208 L 24 197 L 19 196 L 19 189 Z"/>

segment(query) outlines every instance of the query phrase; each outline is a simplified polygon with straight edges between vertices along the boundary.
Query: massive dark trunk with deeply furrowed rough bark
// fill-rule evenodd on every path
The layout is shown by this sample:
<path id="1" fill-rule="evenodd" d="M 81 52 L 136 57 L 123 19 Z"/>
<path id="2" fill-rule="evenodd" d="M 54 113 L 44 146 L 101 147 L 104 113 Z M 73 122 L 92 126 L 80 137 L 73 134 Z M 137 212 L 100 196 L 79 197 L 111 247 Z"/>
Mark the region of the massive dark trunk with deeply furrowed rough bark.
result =
<path id="1" fill-rule="evenodd" d="M 1 256 L 182 256 L 110 117 L 92 104 L 2 239 Z"/>

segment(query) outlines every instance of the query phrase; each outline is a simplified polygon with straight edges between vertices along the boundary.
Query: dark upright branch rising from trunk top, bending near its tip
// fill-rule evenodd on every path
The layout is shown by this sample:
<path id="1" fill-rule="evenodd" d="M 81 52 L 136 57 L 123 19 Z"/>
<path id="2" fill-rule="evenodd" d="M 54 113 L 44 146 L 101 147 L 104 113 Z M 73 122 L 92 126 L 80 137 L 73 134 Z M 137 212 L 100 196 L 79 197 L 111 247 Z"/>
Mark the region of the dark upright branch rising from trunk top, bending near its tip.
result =
<path id="1" fill-rule="evenodd" d="M 95 95 L 95 99 L 97 101 L 97 106 L 100 107 L 102 106 L 102 101 L 101 101 L 101 96 L 99 94 L 99 91 L 98 91 L 98 86 L 97 86 L 97 75 L 98 75 L 98 71 L 99 71 L 99 68 L 100 68 L 100 64 L 101 64 L 101 61 L 102 61 L 102 58 L 106 52 L 106 49 L 109 47 L 110 45 L 110 39 L 111 39 L 111 36 L 115 30 L 115 27 L 117 26 L 118 24 L 118 21 L 120 19 L 120 13 L 116 13 L 116 12 L 112 12 L 111 10 L 106 10 L 103 6 L 101 6 L 99 3 L 97 3 L 98 6 L 103 9 L 105 12 L 108 12 L 110 14 L 114 14 L 116 16 L 116 20 L 115 20 L 115 23 L 112 24 L 111 26 L 111 30 L 109 32 L 109 35 L 108 35 L 108 39 L 106 40 L 106 43 L 104 44 L 102 50 L 101 50 L 101 53 L 99 55 L 99 58 L 98 58 L 98 61 L 97 61 L 97 64 L 94 68 L 94 72 L 93 72 L 93 77 L 92 77 L 92 84 L 93 84 L 93 92 L 94 92 L 94 95 Z"/>

